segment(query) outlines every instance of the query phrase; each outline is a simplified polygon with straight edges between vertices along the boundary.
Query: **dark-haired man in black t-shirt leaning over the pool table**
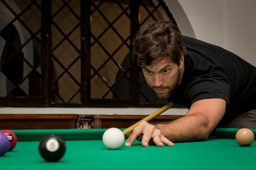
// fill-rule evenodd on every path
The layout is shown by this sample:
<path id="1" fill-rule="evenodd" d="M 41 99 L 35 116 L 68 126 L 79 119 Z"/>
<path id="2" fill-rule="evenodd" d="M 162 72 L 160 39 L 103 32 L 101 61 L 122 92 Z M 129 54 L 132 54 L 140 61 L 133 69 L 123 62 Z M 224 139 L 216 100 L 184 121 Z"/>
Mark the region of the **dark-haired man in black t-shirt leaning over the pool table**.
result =
<path id="1" fill-rule="evenodd" d="M 256 128 L 256 67 L 218 46 L 182 36 L 167 21 L 145 25 L 134 39 L 133 61 L 160 99 L 186 115 L 165 124 L 142 122 L 126 141 L 142 146 L 206 140 L 216 127 Z"/>

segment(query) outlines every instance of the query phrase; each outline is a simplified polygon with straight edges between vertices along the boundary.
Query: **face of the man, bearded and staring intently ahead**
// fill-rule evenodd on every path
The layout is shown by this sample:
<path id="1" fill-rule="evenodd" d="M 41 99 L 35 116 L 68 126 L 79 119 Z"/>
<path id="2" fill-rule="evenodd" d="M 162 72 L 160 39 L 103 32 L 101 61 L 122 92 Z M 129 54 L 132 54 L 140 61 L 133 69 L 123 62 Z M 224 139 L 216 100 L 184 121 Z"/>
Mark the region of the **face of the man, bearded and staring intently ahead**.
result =
<path id="1" fill-rule="evenodd" d="M 159 99 L 167 99 L 181 84 L 184 72 L 184 57 L 182 56 L 180 66 L 171 62 L 168 57 L 154 61 L 153 66 L 142 67 L 142 71 L 148 86 L 154 91 Z"/>

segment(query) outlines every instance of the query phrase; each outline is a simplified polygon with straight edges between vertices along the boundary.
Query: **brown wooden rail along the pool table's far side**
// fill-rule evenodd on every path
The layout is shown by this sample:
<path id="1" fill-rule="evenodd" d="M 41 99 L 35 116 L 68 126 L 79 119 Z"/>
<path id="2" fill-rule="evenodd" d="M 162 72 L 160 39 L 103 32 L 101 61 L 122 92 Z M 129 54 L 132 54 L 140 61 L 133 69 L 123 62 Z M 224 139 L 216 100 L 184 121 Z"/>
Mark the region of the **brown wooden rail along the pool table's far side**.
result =
<path id="1" fill-rule="evenodd" d="M 77 128 L 78 114 L 1 114 L 0 129 L 72 129 Z M 147 115 L 90 115 L 92 128 L 128 128 Z M 182 115 L 159 115 L 150 123 L 172 121 Z"/>

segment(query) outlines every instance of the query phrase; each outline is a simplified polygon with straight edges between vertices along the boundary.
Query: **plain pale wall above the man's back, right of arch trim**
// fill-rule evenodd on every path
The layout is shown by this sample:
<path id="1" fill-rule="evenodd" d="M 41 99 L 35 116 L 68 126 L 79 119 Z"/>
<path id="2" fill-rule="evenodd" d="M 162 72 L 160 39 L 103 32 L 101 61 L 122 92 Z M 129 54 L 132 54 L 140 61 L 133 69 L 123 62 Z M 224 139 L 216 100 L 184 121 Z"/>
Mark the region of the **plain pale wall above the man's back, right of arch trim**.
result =
<path id="1" fill-rule="evenodd" d="M 178 2 L 186 13 L 196 38 L 221 46 L 256 66 L 255 0 Z"/>

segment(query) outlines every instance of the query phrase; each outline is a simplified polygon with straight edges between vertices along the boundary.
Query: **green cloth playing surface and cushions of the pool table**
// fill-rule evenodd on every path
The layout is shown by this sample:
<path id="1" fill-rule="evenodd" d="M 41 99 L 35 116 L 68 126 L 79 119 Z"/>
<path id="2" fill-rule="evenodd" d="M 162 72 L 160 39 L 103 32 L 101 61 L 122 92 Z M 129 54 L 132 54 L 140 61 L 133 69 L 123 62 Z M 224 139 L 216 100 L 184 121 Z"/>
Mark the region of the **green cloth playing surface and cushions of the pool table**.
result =
<path id="1" fill-rule="evenodd" d="M 148 148 L 135 141 L 130 147 L 107 149 L 101 140 L 106 129 L 13 130 L 16 147 L 0 157 L 1 170 L 255 170 L 256 143 L 241 147 L 234 139 L 238 129 L 216 129 L 225 138 L 176 143 L 174 147 Z M 122 129 L 123 130 L 123 129 Z M 256 131 L 253 130 L 255 133 Z M 57 162 L 40 157 L 38 144 L 49 134 L 60 135 L 66 152 Z"/>

